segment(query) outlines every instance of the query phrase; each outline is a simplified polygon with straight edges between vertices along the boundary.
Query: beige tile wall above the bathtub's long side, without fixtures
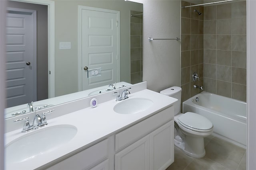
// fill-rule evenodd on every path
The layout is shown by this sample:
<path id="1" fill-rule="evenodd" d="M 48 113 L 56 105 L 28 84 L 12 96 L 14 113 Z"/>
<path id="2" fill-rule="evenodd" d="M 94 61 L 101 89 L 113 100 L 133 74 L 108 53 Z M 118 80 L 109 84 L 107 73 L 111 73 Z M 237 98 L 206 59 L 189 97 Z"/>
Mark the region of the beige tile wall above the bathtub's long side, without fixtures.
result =
<path id="1" fill-rule="evenodd" d="M 246 1 L 204 7 L 204 91 L 246 101 Z"/>

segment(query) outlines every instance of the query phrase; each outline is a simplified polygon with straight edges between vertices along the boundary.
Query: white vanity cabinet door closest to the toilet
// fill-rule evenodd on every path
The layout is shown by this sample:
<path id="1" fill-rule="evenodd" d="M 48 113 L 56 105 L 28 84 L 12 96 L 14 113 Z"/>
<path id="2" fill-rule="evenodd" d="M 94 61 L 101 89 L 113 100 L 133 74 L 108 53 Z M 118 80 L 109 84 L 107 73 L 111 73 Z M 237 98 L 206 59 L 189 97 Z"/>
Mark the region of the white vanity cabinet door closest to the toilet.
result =
<path id="1" fill-rule="evenodd" d="M 150 133 L 150 170 L 165 170 L 174 162 L 174 121 Z"/>

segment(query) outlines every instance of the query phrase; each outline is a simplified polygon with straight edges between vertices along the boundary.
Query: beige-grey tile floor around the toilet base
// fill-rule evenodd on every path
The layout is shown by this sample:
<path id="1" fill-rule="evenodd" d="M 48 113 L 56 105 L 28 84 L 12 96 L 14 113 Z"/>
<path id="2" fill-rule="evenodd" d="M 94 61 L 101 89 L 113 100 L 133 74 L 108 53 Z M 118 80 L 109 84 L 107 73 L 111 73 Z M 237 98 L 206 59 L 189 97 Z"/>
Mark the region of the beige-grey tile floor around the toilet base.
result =
<path id="1" fill-rule="evenodd" d="M 174 163 L 166 170 L 246 170 L 246 149 L 213 136 L 204 139 L 204 146 L 203 158 L 174 147 Z"/>

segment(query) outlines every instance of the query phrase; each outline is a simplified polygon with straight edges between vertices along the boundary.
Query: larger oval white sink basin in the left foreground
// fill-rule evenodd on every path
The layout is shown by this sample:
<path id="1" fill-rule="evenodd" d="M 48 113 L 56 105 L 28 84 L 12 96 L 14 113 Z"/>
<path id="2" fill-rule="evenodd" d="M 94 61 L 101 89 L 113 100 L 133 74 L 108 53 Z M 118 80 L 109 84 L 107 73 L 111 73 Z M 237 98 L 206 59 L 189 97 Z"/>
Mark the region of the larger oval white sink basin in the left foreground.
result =
<path id="1" fill-rule="evenodd" d="M 6 162 L 24 162 L 51 152 L 68 143 L 76 133 L 77 129 L 72 125 L 56 125 L 35 130 L 6 145 Z"/>

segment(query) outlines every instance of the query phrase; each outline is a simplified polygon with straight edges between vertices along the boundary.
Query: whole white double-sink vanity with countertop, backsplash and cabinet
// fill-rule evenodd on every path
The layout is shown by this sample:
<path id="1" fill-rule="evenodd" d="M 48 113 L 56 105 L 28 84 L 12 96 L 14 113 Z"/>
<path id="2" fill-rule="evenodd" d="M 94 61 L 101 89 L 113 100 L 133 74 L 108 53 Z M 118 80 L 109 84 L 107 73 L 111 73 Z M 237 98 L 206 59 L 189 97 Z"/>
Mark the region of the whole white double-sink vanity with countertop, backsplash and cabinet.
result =
<path id="1" fill-rule="evenodd" d="M 117 102 L 116 92 L 127 89 L 128 98 Z M 176 101 L 142 82 L 8 118 L 5 169 L 166 169 L 174 162 Z M 32 123 L 35 114 L 45 115 L 48 125 L 22 133 L 24 122 L 14 120 Z"/>

